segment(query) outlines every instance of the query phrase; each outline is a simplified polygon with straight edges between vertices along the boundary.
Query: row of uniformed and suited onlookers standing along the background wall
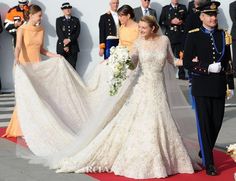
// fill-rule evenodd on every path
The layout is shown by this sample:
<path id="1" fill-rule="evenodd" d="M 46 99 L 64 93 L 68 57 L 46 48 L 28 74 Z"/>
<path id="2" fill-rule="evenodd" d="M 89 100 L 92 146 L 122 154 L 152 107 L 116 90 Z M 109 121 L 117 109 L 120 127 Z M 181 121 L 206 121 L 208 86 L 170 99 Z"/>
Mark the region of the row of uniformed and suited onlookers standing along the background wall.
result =
<path id="1" fill-rule="evenodd" d="M 151 0 L 141 0 L 139 7 L 134 8 L 134 20 L 138 22 L 144 15 L 153 15 L 159 25 L 164 29 L 171 41 L 171 47 L 175 57 L 182 59 L 185 38 L 188 31 L 198 28 L 202 22 L 199 18 L 197 7 L 201 4 L 209 2 L 210 0 L 193 0 L 189 2 L 188 8 L 180 4 L 179 0 L 171 0 L 169 5 L 162 8 L 160 17 L 157 17 L 156 10 L 151 8 Z M 27 22 L 27 13 L 29 10 L 30 2 L 28 0 L 19 0 L 18 5 L 9 9 L 5 15 L 4 28 L 12 35 L 13 46 L 16 45 L 16 31 L 17 29 Z M 110 1 L 110 9 L 100 17 L 99 20 L 99 55 L 106 56 L 106 39 L 108 36 L 118 35 L 118 28 L 120 22 L 117 15 L 119 7 L 119 0 Z M 230 4 L 230 17 L 233 22 L 231 35 L 233 37 L 233 59 L 235 59 L 236 45 L 235 45 L 235 32 L 236 32 L 236 2 Z M 72 6 L 70 3 L 63 3 L 61 7 L 63 16 L 56 20 L 56 33 L 58 36 L 57 53 L 64 56 L 70 64 L 76 68 L 76 61 L 79 52 L 79 43 L 77 41 L 80 34 L 80 20 L 72 16 Z M 1 21 L 0 21 L 1 23 Z M 2 32 L 2 23 L 0 24 L 0 33 Z M 109 46 L 108 46 L 109 47 Z M 108 48 L 107 47 L 107 48 Z M 235 64 L 234 64 L 235 66 Z M 191 79 L 191 75 L 184 69 L 183 66 L 178 66 L 179 71 L 177 78 Z"/>

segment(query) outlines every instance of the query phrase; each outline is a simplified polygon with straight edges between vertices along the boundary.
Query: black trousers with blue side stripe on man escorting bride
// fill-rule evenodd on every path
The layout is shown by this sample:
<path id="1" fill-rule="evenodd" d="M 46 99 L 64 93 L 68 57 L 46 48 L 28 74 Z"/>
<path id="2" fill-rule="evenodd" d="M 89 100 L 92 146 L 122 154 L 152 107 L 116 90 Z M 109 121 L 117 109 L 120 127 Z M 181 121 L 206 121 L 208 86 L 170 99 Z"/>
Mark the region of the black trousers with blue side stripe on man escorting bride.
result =
<path id="1" fill-rule="evenodd" d="M 196 97 L 198 140 L 204 166 L 214 165 L 213 148 L 222 126 L 225 97 Z"/>

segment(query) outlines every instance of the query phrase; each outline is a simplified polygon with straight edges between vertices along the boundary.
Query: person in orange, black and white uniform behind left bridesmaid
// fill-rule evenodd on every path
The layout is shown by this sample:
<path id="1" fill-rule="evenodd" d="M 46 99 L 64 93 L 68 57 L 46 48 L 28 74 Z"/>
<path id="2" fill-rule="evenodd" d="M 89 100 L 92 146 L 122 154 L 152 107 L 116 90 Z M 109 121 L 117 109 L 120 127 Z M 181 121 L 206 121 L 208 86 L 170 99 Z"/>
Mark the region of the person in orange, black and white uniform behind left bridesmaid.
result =
<path id="1" fill-rule="evenodd" d="M 16 46 L 16 31 L 24 22 L 24 14 L 29 11 L 28 0 L 18 0 L 18 5 L 9 9 L 4 21 L 4 27 L 13 36 L 13 45 Z"/>

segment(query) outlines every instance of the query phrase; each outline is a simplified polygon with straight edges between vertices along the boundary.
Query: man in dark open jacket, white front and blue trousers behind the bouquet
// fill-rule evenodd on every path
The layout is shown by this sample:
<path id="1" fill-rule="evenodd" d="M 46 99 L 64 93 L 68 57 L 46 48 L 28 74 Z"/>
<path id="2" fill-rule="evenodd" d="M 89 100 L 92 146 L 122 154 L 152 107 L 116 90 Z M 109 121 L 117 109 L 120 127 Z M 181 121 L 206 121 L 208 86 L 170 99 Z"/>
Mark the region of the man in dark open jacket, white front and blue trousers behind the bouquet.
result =
<path id="1" fill-rule="evenodd" d="M 110 46 L 115 46 L 118 44 L 118 38 L 111 44 L 107 43 L 108 36 L 118 37 L 119 31 L 119 19 L 117 14 L 117 9 L 119 7 L 119 0 L 110 0 L 110 10 L 100 16 L 99 20 L 99 55 L 107 59 L 109 56 Z M 115 43 L 115 44 L 114 44 Z"/>

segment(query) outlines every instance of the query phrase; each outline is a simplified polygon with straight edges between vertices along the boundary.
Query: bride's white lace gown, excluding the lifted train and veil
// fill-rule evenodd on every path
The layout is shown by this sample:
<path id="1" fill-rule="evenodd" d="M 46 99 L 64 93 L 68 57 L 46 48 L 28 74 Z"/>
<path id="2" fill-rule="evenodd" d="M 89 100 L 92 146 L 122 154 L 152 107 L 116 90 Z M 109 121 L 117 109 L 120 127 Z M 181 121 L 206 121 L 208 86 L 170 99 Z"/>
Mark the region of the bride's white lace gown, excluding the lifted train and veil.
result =
<path id="1" fill-rule="evenodd" d="M 136 42 L 141 72 L 126 104 L 82 151 L 60 162 L 57 172 L 112 171 L 131 178 L 193 173 L 172 119 L 163 79 L 168 40 Z"/>

